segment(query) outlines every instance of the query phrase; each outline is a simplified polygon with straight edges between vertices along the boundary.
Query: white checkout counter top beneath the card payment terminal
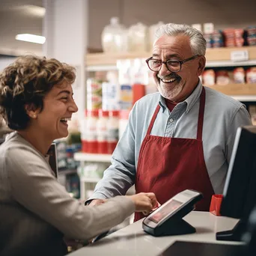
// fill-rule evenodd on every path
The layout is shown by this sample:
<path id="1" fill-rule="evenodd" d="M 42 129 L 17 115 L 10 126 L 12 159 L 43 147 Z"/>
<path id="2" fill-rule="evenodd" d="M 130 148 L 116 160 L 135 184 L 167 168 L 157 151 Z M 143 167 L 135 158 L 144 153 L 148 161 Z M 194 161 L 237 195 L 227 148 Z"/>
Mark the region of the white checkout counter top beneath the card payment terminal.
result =
<path id="1" fill-rule="evenodd" d="M 174 255 L 183 256 L 183 253 L 168 253 L 163 252 L 168 249 L 169 246 L 174 245 L 177 241 L 186 242 L 203 242 L 203 243 L 215 243 L 219 245 L 230 244 L 230 245 L 241 245 L 240 242 L 230 241 L 218 241 L 216 240 L 216 232 L 225 231 L 234 228 L 237 224 L 237 219 L 231 219 L 228 217 L 214 216 L 209 212 L 197 212 L 192 211 L 183 218 L 190 225 L 195 227 L 196 233 L 176 235 L 176 236 L 165 236 L 165 237 L 153 237 L 150 234 L 144 232 L 142 228 L 143 219 L 132 225 L 122 228 L 115 233 L 104 237 L 102 240 L 98 240 L 96 243 L 92 243 L 90 246 L 85 246 L 76 252 L 70 253 L 70 256 L 84 256 L 84 255 L 136 255 L 136 256 L 156 256 L 156 255 Z M 238 246 L 239 247 L 239 246 Z M 227 255 L 218 254 L 213 252 L 213 249 L 200 250 L 190 249 L 191 246 L 183 245 L 183 248 L 190 250 L 189 256 L 207 256 L 207 255 Z M 207 251 L 207 252 L 206 252 Z M 210 252 L 210 254 L 209 254 Z M 229 254 L 228 254 L 229 255 Z M 227 255 L 227 256 L 228 256 Z"/>

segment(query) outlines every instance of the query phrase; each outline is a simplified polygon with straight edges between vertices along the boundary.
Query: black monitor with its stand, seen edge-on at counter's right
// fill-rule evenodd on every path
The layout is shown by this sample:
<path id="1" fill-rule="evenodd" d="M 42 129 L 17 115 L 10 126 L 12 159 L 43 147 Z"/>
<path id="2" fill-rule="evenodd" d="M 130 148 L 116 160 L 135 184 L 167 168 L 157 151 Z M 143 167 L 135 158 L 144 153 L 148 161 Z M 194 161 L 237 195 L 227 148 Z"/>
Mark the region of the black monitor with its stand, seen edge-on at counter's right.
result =
<path id="1" fill-rule="evenodd" d="M 218 232 L 216 239 L 240 241 L 255 204 L 256 127 L 239 127 L 225 181 L 221 215 L 240 221 L 233 230 Z"/>

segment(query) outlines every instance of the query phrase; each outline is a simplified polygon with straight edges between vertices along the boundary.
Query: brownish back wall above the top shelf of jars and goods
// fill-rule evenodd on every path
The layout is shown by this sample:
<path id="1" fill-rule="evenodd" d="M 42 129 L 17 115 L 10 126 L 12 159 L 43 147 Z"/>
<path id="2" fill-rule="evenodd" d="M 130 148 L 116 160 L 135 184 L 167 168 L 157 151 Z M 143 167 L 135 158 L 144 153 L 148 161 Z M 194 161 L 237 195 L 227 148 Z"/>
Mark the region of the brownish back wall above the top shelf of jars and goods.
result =
<path id="1" fill-rule="evenodd" d="M 213 22 L 216 28 L 256 25 L 255 0 L 89 0 L 88 46 L 100 49 L 100 34 L 112 16 L 132 25 Z"/>

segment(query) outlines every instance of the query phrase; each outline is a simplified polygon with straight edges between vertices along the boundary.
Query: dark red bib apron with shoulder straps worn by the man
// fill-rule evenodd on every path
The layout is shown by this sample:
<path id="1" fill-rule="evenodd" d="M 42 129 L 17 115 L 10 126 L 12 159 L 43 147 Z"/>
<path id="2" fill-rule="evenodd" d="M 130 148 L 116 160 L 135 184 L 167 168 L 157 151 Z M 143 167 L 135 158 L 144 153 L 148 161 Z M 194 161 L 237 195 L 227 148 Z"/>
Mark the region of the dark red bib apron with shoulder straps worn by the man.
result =
<path id="1" fill-rule="evenodd" d="M 160 204 L 184 189 L 202 192 L 204 198 L 195 205 L 195 210 L 209 211 L 213 186 L 204 162 L 203 123 L 205 90 L 200 96 L 197 138 L 169 138 L 150 135 L 160 106 L 156 107 L 147 135 L 141 144 L 138 156 L 135 190 L 154 192 Z M 135 221 L 144 218 L 135 213 Z"/>

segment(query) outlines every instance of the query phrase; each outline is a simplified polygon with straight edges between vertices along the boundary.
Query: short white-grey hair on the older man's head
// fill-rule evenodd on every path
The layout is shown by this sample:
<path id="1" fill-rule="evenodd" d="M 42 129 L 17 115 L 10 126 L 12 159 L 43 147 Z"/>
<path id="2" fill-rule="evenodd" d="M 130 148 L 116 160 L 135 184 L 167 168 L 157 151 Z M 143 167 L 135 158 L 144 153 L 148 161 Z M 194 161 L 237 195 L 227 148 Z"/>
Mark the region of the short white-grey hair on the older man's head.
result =
<path id="1" fill-rule="evenodd" d="M 206 51 L 206 40 L 204 39 L 203 34 L 198 29 L 192 28 L 189 25 L 185 24 L 174 24 L 168 23 L 165 25 L 161 25 L 155 34 L 155 40 L 163 35 L 168 36 L 177 36 L 180 34 L 184 34 L 189 37 L 190 47 L 193 55 L 205 55 Z"/>

